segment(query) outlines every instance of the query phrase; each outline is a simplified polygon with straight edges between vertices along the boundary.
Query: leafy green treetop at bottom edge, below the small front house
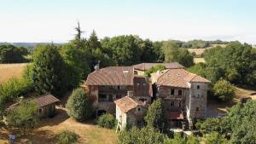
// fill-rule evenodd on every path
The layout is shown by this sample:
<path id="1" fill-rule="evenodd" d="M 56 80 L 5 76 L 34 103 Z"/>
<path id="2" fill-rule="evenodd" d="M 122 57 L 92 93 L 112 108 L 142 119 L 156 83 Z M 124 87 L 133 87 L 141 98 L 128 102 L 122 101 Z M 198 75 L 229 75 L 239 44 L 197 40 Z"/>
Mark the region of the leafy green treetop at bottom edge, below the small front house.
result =
<path id="1" fill-rule="evenodd" d="M 118 144 L 162 144 L 166 135 L 154 128 L 143 127 L 141 130 L 133 127 L 131 130 L 122 130 L 118 135 Z"/>

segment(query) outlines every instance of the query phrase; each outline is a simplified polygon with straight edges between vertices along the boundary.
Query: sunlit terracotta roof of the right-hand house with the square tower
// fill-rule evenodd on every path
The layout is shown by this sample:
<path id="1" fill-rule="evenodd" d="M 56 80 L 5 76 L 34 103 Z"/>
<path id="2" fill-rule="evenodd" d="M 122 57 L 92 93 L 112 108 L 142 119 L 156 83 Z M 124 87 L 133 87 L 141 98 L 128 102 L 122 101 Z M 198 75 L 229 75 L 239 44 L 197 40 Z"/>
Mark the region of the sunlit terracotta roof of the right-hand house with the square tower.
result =
<path id="1" fill-rule="evenodd" d="M 206 78 L 187 72 L 184 69 L 169 69 L 158 78 L 156 84 L 189 88 L 188 83 L 190 82 L 210 83 Z"/>

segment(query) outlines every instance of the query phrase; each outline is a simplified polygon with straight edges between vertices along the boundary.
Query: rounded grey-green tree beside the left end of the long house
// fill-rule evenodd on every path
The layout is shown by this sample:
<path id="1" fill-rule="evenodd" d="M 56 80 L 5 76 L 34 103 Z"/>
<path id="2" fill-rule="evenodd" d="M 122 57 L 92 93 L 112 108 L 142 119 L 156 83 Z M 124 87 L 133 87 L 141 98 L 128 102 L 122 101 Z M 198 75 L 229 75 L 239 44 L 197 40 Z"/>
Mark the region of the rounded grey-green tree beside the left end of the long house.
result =
<path id="1" fill-rule="evenodd" d="M 67 101 L 67 113 L 77 121 L 88 120 L 92 115 L 92 105 L 84 89 L 74 89 Z"/>

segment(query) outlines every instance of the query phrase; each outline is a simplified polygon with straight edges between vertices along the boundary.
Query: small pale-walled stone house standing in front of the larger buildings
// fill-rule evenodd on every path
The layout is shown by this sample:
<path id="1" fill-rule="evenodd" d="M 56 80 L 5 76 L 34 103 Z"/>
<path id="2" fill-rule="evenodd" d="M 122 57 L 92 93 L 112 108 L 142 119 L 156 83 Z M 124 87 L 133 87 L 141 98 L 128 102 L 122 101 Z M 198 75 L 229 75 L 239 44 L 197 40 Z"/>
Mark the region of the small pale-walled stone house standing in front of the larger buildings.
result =
<path id="1" fill-rule="evenodd" d="M 147 104 L 137 101 L 132 96 L 132 92 L 119 100 L 114 101 L 116 105 L 116 119 L 118 121 L 117 130 L 124 130 L 132 126 L 142 126 L 143 118 L 147 112 Z"/>

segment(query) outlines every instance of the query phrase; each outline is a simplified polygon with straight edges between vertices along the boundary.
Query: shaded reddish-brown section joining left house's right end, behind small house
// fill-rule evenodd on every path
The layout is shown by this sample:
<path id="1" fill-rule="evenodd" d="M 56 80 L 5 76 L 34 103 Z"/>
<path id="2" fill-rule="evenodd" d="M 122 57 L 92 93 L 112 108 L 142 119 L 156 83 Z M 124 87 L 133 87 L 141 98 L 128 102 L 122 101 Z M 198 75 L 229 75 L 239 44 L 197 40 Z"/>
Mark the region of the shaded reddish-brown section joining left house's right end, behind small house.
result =
<path id="1" fill-rule="evenodd" d="M 153 93 L 152 84 L 143 76 L 134 76 L 133 85 L 135 96 L 151 96 Z"/>

